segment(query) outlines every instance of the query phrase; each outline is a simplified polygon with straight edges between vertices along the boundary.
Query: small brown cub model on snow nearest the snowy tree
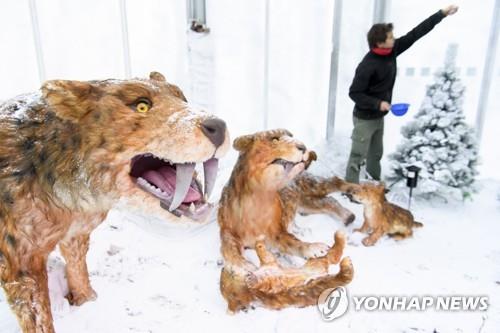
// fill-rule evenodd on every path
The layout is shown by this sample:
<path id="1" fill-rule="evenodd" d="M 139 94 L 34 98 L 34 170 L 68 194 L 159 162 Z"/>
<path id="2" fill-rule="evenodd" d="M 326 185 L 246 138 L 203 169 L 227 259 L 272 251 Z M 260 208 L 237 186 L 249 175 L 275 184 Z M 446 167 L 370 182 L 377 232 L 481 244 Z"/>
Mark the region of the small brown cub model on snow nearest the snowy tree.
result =
<path id="1" fill-rule="evenodd" d="M 410 211 L 387 201 L 383 184 L 348 184 L 345 190 L 353 201 L 364 206 L 363 225 L 354 231 L 369 233 L 363 239 L 365 246 L 374 245 L 386 234 L 398 240 L 411 237 L 413 228 L 423 226 L 422 223 L 415 222 Z"/>

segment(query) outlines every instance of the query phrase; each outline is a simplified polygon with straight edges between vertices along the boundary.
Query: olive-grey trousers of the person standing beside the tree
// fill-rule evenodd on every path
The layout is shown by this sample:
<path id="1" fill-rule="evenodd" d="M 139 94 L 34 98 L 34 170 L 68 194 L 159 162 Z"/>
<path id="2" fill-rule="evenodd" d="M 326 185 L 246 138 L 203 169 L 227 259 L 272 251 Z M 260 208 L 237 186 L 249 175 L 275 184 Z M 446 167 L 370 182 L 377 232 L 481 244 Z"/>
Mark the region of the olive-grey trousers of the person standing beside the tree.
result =
<path id="1" fill-rule="evenodd" d="M 359 183 L 359 170 L 366 160 L 366 171 L 380 180 L 380 160 L 384 153 L 384 118 L 364 120 L 353 116 L 352 145 L 345 180 Z"/>

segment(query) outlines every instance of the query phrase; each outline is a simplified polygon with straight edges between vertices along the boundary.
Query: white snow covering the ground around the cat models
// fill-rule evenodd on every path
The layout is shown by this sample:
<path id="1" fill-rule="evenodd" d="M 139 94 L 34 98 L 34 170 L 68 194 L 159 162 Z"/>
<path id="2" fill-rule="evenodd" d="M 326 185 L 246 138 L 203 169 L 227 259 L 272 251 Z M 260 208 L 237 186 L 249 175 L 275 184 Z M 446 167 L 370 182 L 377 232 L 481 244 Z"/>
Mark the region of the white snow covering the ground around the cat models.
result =
<path id="1" fill-rule="evenodd" d="M 339 148 L 340 147 L 340 148 Z M 347 139 L 319 146 L 312 172 L 342 175 Z M 236 155 L 222 163 L 218 190 Z M 218 226 L 165 226 L 159 221 L 111 211 L 95 230 L 88 254 L 95 302 L 69 306 L 63 259 L 49 260 L 51 301 L 58 333 L 65 332 L 499 332 L 500 331 L 500 182 L 483 179 L 480 192 L 467 202 L 414 200 L 412 210 L 425 227 L 412 239 L 383 238 L 375 247 L 360 245 L 352 233 L 362 222 L 361 206 L 336 196 L 357 216 L 354 225 L 321 215 L 298 217 L 294 230 L 308 241 L 332 242 L 338 229 L 350 240 L 355 278 L 350 295 L 488 295 L 487 312 L 356 312 L 322 321 L 316 307 L 271 311 L 257 308 L 229 315 L 219 292 L 221 270 Z M 404 193 L 390 193 L 396 200 Z M 405 204 L 402 204 L 403 206 Z M 0 332 L 18 332 L 3 293 Z"/>

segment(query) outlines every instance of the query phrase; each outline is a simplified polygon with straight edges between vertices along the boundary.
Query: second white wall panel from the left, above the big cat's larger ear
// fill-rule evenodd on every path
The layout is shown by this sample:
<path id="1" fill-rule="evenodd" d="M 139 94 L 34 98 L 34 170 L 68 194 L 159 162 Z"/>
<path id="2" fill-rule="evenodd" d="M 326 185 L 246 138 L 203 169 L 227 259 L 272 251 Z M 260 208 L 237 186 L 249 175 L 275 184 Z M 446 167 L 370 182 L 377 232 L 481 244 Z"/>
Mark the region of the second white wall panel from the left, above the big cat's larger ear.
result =
<path id="1" fill-rule="evenodd" d="M 36 3 L 47 79 L 124 76 L 118 1 Z"/>

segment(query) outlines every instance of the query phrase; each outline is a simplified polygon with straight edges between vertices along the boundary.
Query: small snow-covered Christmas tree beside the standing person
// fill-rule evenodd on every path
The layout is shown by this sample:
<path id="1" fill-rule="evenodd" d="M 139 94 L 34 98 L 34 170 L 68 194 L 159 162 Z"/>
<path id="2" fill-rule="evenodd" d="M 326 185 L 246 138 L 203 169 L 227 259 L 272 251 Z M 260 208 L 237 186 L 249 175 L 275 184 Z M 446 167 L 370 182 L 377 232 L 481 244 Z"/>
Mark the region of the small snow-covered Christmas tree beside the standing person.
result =
<path id="1" fill-rule="evenodd" d="M 465 87 L 455 66 L 456 45 L 448 48 L 415 118 L 401 129 L 404 136 L 389 156 L 389 180 L 406 178 L 406 168 L 421 168 L 417 193 L 467 197 L 474 190 L 478 151 L 474 131 L 462 109 Z"/>

